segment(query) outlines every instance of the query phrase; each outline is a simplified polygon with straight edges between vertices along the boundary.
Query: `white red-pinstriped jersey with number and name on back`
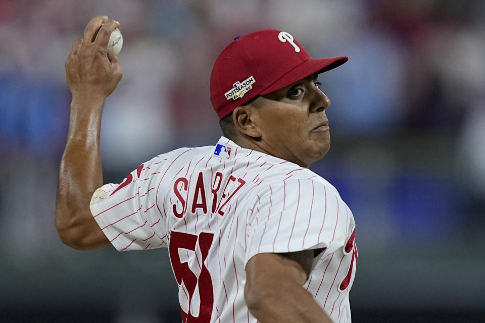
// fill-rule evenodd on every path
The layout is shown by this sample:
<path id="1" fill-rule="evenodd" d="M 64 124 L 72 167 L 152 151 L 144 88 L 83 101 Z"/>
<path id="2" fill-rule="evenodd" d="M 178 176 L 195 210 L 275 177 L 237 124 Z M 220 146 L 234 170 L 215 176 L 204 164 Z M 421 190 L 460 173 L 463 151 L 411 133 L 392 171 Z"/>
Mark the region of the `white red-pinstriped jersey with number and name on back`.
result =
<path id="1" fill-rule="evenodd" d="M 248 260 L 320 248 L 304 288 L 333 321 L 351 321 L 354 217 L 306 168 L 221 137 L 216 146 L 156 156 L 121 184 L 104 185 L 91 211 L 119 251 L 168 247 L 183 322 L 257 322 L 244 300 Z"/>

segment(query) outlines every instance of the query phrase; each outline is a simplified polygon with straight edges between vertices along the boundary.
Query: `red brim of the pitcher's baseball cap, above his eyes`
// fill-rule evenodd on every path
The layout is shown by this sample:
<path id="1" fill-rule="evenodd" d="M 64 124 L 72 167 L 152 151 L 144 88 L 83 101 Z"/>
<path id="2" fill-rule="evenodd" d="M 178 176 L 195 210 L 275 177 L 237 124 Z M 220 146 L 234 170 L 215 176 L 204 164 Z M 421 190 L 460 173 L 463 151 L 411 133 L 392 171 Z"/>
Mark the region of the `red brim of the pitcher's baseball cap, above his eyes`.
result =
<path id="1" fill-rule="evenodd" d="M 348 57 L 341 56 L 341 57 L 332 57 L 332 58 L 326 58 L 326 59 L 316 59 L 316 60 L 305 61 L 302 64 L 296 66 L 294 69 L 290 70 L 285 75 L 283 75 L 280 79 L 278 79 L 269 87 L 261 91 L 259 94 L 260 95 L 269 94 L 271 92 L 282 89 L 283 87 L 286 87 L 290 84 L 293 84 L 301 79 L 304 79 L 312 74 L 323 73 L 323 72 L 332 70 L 336 67 L 341 66 L 348 60 L 349 60 Z"/>

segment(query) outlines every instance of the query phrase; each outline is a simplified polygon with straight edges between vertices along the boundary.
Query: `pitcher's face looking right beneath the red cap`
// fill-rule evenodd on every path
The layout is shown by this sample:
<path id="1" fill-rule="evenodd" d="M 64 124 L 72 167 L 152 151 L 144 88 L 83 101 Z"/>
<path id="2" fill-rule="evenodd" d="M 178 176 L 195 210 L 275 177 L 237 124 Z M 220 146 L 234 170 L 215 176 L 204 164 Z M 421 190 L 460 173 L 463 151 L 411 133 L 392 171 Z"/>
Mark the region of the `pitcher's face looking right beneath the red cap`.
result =
<path id="1" fill-rule="evenodd" d="M 261 131 L 258 146 L 279 158 L 308 167 L 330 148 L 325 109 L 330 99 L 311 75 L 258 97 L 252 119 Z"/>

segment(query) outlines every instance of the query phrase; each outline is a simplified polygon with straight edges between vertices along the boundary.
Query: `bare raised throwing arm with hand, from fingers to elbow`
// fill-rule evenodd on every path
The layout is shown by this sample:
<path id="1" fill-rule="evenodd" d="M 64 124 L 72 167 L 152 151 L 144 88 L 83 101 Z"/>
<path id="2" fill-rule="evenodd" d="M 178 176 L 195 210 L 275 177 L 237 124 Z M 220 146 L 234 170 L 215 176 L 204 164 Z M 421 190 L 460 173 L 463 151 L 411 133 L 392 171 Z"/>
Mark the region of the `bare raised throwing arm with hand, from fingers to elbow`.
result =
<path id="1" fill-rule="evenodd" d="M 101 116 L 105 99 L 121 80 L 116 58 L 107 56 L 111 32 L 119 23 L 107 16 L 92 18 L 77 39 L 66 61 L 66 77 L 72 93 L 66 148 L 59 167 L 56 227 L 61 240 L 88 250 L 109 244 L 91 215 L 89 202 L 103 185 L 100 156 Z"/>

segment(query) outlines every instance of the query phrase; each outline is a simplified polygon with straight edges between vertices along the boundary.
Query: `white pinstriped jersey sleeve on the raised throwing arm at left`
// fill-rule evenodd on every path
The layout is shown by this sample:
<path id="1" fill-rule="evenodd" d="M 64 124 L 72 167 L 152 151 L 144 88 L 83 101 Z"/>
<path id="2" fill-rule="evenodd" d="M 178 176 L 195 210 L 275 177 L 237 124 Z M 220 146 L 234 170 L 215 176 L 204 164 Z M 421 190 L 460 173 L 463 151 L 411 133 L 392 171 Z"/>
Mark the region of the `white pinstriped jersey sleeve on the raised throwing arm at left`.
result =
<path id="1" fill-rule="evenodd" d="M 160 169 L 166 159 L 157 156 L 141 164 L 120 184 L 105 184 L 91 198 L 90 208 L 118 251 L 167 246 L 165 216 L 157 206 Z"/>

